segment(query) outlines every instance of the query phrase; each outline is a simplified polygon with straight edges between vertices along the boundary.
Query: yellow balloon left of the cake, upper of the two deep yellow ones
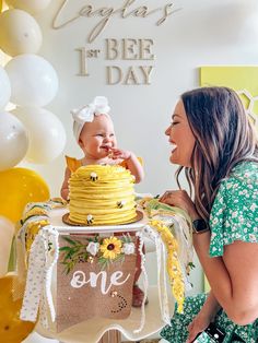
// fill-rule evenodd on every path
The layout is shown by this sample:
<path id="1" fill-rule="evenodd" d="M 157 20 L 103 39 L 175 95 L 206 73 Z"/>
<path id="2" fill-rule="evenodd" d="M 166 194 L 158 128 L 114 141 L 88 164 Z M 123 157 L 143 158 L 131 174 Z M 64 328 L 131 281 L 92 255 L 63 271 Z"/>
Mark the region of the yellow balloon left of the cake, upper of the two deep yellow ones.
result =
<path id="1" fill-rule="evenodd" d="M 0 215 L 16 223 L 28 202 L 49 200 L 49 189 L 34 170 L 12 168 L 0 172 Z"/>

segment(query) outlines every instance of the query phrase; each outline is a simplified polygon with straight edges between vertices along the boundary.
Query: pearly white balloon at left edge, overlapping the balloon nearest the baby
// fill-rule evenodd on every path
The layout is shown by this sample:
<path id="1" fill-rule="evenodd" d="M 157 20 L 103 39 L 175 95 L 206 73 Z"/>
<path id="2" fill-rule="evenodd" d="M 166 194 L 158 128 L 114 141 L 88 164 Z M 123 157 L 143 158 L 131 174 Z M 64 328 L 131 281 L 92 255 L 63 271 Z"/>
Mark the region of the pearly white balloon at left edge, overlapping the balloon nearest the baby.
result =
<path id="1" fill-rule="evenodd" d="M 28 139 L 23 123 L 13 115 L 0 113 L 0 170 L 14 167 L 27 152 Z"/>

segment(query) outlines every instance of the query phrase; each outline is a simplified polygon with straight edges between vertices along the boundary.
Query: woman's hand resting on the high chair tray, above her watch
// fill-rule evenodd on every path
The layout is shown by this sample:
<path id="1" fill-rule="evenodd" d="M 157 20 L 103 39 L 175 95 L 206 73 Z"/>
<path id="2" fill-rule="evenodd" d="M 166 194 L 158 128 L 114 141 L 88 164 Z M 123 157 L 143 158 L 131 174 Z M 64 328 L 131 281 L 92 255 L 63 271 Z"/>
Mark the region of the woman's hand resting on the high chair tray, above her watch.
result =
<path id="1" fill-rule="evenodd" d="M 192 221 L 200 217 L 185 190 L 168 190 L 161 197 L 160 202 L 185 210 Z"/>

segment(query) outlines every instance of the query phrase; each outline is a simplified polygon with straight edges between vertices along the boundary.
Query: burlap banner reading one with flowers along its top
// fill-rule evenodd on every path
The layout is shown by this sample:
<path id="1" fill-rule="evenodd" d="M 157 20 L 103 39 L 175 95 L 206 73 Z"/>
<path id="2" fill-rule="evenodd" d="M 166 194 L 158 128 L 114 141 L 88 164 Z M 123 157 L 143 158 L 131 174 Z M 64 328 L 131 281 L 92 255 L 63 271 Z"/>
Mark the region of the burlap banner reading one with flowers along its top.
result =
<path id="1" fill-rule="evenodd" d="M 136 237 L 59 236 L 57 332 L 92 317 L 130 315 Z"/>

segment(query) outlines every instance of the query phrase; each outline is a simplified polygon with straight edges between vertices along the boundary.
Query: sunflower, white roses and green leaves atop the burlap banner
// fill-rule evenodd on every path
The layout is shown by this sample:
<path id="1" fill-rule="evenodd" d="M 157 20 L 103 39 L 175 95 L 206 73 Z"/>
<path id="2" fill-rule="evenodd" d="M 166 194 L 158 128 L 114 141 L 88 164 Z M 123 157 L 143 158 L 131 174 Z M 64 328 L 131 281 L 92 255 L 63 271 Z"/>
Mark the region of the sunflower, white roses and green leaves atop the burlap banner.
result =
<path id="1" fill-rule="evenodd" d="M 62 238 L 69 244 L 59 249 L 62 252 L 61 263 L 64 265 L 66 274 L 69 274 L 80 262 L 93 263 L 96 260 L 104 270 L 109 263 L 124 262 L 126 255 L 136 252 L 134 243 L 129 234 L 122 235 L 120 239 L 114 236 L 103 238 L 97 235 L 83 237 L 85 243 L 69 237 Z"/>

